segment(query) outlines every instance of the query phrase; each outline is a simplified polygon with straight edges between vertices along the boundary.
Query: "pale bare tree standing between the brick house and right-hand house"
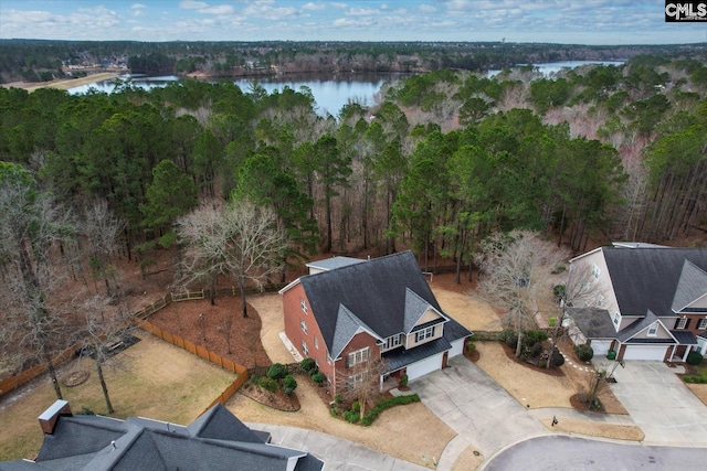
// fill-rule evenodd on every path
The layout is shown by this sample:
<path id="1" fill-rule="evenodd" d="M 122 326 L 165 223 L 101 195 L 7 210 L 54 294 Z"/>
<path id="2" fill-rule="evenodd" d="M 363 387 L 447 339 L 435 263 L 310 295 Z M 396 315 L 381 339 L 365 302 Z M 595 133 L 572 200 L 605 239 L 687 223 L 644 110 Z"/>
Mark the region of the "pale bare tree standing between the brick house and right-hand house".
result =
<path id="1" fill-rule="evenodd" d="M 551 271 L 567 257 L 566 250 L 532 231 L 495 233 L 481 244 L 475 256 L 478 290 L 486 300 L 507 311 L 506 323 L 518 333 L 516 356 L 520 356 L 523 332 L 535 328 L 531 300 L 547 287 Z"/>

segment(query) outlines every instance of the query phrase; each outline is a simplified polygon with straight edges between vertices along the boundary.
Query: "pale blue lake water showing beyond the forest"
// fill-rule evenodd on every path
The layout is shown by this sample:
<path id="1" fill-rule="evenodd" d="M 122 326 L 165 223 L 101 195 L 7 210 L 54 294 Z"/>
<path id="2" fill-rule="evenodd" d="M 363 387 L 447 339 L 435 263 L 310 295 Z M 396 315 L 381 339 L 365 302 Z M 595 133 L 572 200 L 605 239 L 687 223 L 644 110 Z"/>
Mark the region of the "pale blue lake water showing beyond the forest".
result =
<path id="1" fill-rule="evenodd" d="M 545 76 L 550 76 L 566 67 L 579 67 L 585 64 L 603 64 L 603 65 L 622 65 L 623 61 L 564 61 L 547 64 L 534 64 Z M 489 76 L 498 71 L 489 71 Z M 312 95 L 316 100 L 317 111 L 321 116 L 327 113 L 338 115 L 344 105 L 351 101 L 361 104 L 362 106 L 371 106 L 377 103 L 377 95 L 386 82 L 394 83 L 410 74 L 390 74 L 390 73 L 370 73 L 370 74 L 347 74 L 347 75 L 287 75 L 283 77 L 257 77 L 257 78 L 238 78 L 233 83 L 238 85 L 244 93 L 247 93 L 251 83 L 256 79 L 265 90 L 271 94 L 274 90 L 282 90 L 289 87 L 295 92 L 305 86 L 312 90 Z M 133 85 L 151 89 L 155 87 L 163 87 L 167 84 L 180 81 L 176 76 L 146 77 L 133 76 Z M 70 88 L 68 93 L 76 95 L 88 92 L 91 88 L 97 92 L 113 93 L 116 88 L 115 81 L 98 82 L 95 84 L 83 85 Z"/>

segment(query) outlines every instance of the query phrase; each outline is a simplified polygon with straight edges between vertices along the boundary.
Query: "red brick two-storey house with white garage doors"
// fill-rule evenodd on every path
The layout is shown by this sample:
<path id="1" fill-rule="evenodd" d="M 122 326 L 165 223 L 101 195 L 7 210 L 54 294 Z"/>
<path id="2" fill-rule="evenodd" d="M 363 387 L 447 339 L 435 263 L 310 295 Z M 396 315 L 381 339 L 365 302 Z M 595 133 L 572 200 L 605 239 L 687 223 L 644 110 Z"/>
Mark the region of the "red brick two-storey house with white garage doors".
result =
<path id="1" fill-rule="evenodd" d="M 372 260 L 334 257 L 307 265 L 283 296 L 285 333 L 316 361 L 328 390 L 337 375 L 382 358 L 388 376 L 410 381 L 446 366 L 472 333 L 442 311 L 411 251 Z M 339 378 L 341 379 L 341 378 Z"/>

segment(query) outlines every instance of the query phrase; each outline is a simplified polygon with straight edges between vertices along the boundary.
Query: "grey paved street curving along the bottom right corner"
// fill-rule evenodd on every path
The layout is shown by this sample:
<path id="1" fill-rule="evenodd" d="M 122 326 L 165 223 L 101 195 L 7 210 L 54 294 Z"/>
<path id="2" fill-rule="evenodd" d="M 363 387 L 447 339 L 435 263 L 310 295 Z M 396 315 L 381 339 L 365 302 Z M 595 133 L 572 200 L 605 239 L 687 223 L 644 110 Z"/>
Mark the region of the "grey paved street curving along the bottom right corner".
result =
<path id="1" fill-rule="evenodd" d="M 524 470 L 704 470 L 706 448 L 652 447 L 551 436 L 523 441 L 500 452 L 484 471 Z"/>

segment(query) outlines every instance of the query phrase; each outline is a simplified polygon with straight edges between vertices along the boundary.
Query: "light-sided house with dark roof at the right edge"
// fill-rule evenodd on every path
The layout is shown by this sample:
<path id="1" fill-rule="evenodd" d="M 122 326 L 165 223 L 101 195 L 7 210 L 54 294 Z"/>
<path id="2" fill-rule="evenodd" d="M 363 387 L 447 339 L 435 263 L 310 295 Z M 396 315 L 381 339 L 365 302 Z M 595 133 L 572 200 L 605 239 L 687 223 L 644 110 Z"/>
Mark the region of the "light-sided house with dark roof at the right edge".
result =
<path id="1" fill-rule="evenodd" d="M 590 272 L 597 299 L 568 309 L 594 355 L 616 360 L 684 362 L 707 353 L 707 248 L 615 243 L 570 260 Z"/>

